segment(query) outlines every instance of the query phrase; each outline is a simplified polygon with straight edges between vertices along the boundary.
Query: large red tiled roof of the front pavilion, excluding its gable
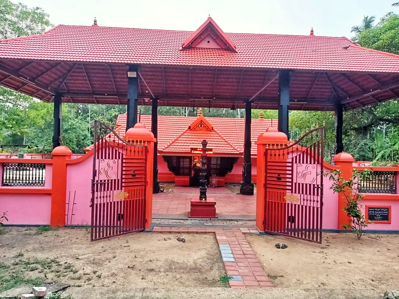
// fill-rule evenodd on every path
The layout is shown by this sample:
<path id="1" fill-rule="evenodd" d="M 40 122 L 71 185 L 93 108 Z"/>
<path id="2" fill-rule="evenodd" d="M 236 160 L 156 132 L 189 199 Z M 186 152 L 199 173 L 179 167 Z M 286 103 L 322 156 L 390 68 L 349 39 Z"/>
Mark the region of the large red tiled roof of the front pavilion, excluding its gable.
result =
<path id="1" fill-rule="evenodd" d="M 0 59 L 399 73 L 399 56 L 346 37 L 225 33 L 237 53 L 192 48 L 192 31 L 58 25 L 0 41 Z M 348 47 L 349 46 L 349 47 Z"/>

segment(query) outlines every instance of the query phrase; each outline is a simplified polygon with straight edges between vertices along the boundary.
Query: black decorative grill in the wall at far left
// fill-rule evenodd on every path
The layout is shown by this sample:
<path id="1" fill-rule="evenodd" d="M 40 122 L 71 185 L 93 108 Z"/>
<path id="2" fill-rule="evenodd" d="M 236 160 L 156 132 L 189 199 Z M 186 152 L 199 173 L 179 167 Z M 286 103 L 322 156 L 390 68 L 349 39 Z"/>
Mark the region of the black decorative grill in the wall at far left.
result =
<path id="1" fill-rule="evenodd" d="M 2 186 L 44 187 L 45 163 L 3 162 Z"/>

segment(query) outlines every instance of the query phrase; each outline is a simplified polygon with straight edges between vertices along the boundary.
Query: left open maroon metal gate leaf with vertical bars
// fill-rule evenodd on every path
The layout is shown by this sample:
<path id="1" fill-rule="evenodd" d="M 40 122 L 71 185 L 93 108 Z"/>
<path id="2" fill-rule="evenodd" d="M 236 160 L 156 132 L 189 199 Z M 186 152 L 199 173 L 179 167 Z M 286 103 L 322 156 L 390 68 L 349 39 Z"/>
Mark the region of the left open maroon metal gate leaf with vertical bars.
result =
<path id="1" fill-rule="evenodd" d="M 91 241 L 144 230 L 147 153 L 94 122 Z"/>

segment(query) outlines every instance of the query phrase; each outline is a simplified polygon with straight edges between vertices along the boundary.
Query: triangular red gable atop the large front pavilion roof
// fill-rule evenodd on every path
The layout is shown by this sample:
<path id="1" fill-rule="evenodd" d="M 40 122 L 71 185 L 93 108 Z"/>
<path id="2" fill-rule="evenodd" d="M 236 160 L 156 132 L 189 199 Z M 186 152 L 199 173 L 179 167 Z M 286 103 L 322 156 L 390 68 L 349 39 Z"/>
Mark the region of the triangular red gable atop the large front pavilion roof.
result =
<path id="1" fill-rule="evenodd" d="M 227 37 L 211 17 L 192 34 L 182 45 L 182 49 L 206 48 L 225 49 L 232 52 L 235 50 L 234 43 Z"/>

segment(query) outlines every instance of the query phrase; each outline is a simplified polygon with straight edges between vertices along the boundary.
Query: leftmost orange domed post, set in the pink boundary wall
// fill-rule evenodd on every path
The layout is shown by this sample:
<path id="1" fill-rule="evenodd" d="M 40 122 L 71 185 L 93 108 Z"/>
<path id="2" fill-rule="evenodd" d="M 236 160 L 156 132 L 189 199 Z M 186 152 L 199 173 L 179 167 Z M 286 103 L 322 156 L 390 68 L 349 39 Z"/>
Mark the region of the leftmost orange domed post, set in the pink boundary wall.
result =
<path id="1" fill-rule="evenodd" d="M 53 167 L 51 176 L 51 214 L 50 226 L 65 225 L 65 205 L 67 200 L 67 164 L 72 151 L 66 146 L 57 146 L 51 152 Z"/>

